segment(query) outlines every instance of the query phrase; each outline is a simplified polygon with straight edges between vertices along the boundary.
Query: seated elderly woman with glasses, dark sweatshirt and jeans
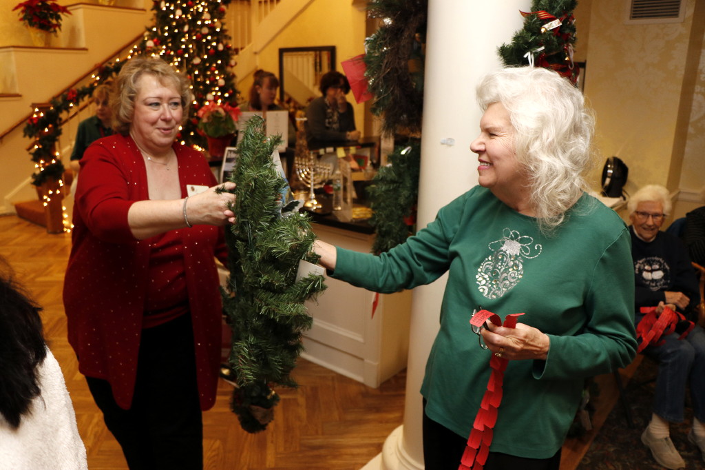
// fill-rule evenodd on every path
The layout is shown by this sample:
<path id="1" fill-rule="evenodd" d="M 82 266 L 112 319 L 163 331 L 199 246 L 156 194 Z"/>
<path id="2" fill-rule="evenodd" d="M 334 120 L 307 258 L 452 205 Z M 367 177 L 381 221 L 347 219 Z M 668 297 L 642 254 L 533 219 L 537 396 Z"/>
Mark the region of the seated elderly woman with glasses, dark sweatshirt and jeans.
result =
<path id="1" fill-rule="evenodd" d="M 630 198 L 628 209 L 632 221 L 637 325 L 645 316 L 640 308 L 658 306 L 660 314 L 665 304 L 686 317 L 697 318 L 692 314 L 700 295 L 687 249 L 677 236 L 660 231 L 671 210 L 668 190 L 658 185 L 644 186 Z M 687 322 L 680 323 L 675 332 L 661 337 L 663 344 L 644 349 L 644 354 L 654 358 L 659 367 L 653 414 L 642 433 L 642 442 L 651 449 L 656 462 L 667 469 L 685 466 L 670 440 L 669 423 L 683 421 L 687 385 L 694 414 L 688 440 L 705 456 L 705 332 L 695 325 L 680 339 L 689 326 Z"/>

